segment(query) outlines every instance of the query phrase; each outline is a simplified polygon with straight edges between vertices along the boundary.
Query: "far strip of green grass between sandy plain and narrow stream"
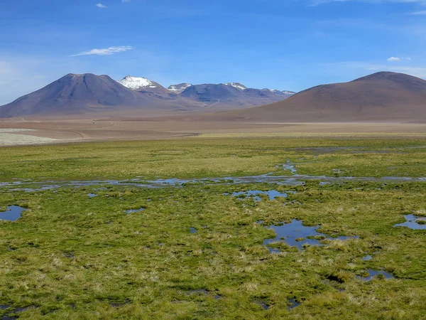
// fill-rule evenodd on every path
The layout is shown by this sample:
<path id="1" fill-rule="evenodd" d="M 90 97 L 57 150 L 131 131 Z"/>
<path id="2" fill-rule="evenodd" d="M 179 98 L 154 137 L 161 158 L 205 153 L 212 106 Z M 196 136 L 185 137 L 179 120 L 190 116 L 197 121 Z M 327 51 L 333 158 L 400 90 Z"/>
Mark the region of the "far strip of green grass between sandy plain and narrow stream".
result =
<path id="1" fill-rule="evenodd" d="M 426 176 L 426 140 L 182 139 L 1 148 L 0 181 L 94 178 L 200 178 L 279 171 L 288 159 L 299 174 Z M 290 174 L 290 171 L 284 172 Z"/>

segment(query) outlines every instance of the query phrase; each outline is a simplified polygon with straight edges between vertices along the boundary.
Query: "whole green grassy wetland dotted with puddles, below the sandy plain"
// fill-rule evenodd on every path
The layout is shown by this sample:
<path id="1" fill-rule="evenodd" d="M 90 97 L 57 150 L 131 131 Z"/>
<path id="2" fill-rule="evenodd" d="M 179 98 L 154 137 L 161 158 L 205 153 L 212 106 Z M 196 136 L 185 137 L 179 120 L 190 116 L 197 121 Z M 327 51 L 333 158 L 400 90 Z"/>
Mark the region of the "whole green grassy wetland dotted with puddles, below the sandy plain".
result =
<path id="1" fill-rule="evenodd" d="M 424 225 L 426 181 L 400 177 L 425 159 L 416 137 L 2 148 L 0 212 L 26 210 L 0 221 L 0 316 L 426 319 L 426 230 L 395 227 Z M 319 235 L 266 245 L 294 220 Z"/>

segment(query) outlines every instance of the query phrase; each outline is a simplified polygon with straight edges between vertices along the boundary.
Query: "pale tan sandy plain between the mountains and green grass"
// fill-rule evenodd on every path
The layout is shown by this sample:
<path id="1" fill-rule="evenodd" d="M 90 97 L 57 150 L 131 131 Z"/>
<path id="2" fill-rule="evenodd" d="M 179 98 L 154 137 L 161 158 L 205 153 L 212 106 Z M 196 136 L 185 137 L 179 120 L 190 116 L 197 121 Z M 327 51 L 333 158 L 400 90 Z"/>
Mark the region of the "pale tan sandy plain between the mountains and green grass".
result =
<path id="1" fill-rule="evenodd" d="M 0 146 L 178 137 L 425 137 L 426 123 L 255 123 L 146 118 L 0 119 Z"/>

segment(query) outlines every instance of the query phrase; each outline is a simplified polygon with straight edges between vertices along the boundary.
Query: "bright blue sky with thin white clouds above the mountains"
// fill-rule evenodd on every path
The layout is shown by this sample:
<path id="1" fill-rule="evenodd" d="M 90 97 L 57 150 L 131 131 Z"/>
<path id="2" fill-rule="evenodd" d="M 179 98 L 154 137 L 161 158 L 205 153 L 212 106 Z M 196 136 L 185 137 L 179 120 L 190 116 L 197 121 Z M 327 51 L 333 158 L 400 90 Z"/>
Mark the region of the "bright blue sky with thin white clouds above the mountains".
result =
<path id="1" fill-rule="evenodd" d="M 426 0 L 0 1 L 0 105 L 67 73 L 303 90 L 426 77 Z"/>

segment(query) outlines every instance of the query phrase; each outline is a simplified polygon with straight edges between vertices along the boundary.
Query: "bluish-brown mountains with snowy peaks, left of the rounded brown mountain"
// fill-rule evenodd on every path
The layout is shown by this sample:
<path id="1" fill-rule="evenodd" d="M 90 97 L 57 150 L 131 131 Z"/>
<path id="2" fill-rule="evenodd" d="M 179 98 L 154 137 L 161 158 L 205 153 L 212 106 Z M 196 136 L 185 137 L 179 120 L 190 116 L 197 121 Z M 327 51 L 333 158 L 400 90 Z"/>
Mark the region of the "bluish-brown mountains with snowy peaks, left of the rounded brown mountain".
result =
<path id="1" fill-rule="evenodd" d="M 278 102 L 295 92 L 248 89 L 243 85 L 182 83 L 163 87 L 146 78 L 68 74 L 0 107 L 0 117 L 84 114 L 124 110 L 230 110 Z"/>

